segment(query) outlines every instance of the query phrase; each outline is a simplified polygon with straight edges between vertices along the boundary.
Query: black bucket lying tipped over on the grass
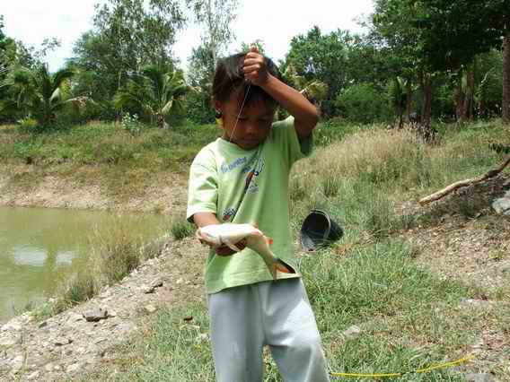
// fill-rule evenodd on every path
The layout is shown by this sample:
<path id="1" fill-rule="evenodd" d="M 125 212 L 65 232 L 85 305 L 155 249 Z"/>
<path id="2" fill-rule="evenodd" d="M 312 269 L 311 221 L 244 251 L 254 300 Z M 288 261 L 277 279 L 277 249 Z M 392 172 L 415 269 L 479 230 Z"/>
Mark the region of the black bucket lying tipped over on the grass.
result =
<path id="1" fill-rule="evenodd" d="M 303 250 L 312 252 L 317 247 L 337 241 L 343 235 L 344 230 L 330 218 L 328 213 L 313 209 L 303 221 L 299 239 Z"/>

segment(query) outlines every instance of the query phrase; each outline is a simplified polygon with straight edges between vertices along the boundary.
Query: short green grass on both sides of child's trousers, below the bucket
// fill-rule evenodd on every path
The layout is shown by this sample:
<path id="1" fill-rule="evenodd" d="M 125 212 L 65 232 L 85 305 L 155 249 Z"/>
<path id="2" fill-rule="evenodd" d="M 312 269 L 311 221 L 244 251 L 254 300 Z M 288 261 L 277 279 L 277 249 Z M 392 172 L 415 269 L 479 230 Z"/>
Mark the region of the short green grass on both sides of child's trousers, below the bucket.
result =
<path id="1" fill-rule="evenodd" d="M 479 330 L 473 312 L 457 308 L 470 288 L 439 280 L 413 262 L 413 248 L 384 242 L 344 259 L 332 251 L 305 256 L 302 269 L 330 371 L 401 372 L 463 355 Z M 185 322 L 184 317 L 193 317 Z M 354 339 L 342 333 L 362 328 Z M 214 381 L 207 310 L 187 304 L 163 310 L 128 342 L 107 373 L 82 380 Z M 267 355 L 266 379 L 281 381 Z M 116 370 L 116 374 L 112 374 Z M 360 379 L 353 379 L 360 380 Z M 403 380 L 462 380 L 452 369 Z"/>

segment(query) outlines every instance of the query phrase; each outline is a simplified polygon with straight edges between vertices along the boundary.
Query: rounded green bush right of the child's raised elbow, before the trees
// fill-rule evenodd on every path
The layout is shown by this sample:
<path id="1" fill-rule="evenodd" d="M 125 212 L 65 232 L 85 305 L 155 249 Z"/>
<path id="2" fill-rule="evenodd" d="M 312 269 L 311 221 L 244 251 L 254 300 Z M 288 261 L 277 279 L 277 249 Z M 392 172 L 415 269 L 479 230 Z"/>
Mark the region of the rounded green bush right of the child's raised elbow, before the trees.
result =
<path id="1" fill-rule="evenodd" d="M 335 102 L 340 114 L 351 122 L 370 124 L 387 121 L 393 115 L 388 94 L 370 83 L 360 83 L 341 91 Z"/>

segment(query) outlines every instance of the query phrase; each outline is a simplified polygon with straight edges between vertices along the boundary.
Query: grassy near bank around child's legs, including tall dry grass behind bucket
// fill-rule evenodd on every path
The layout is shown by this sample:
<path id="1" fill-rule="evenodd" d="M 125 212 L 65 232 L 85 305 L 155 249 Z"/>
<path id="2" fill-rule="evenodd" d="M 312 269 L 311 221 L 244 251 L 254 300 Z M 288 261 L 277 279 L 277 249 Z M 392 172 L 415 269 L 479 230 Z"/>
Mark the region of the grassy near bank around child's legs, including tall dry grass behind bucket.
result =
<path id="1" fill-rule="evenodd" d="M 421 248 L 405 239 L 406 230 L 438 224 L 446 215 L 507 229 L 501 217 L 490 213 L 483 195 L 450 197 L 426 208 L 402 207 L 453 181 L 485 173 L 505 158 L 488 144 L 508 143 L 508 132 L 497 121 L 439 129 L 441 143 L 435 146 L 417 143 L 409 133 L 381 128 L 354 131 L 339 140 L 332 135 L 326 148 L 292 174 L 293 231 L 313 207 L 329 211 L 346 231 L 334 246 L 300 256 L 331 371 L 426 368 L 462 358 L 488 328 L 510 334 L 508 283 L 487 289 L 463 282 L 462 275 L 459 281 L 445 278 L 420 265 Z M 469 305 L 465 303 L 469 299 L 493 303 Z M 193 319 L 188 322 L 184 317 Z M 353 325 L 361 333 L 344 335 Z M 203 335 L 207 331 L 204 305 L 161 311 L 119 346 L 108 369 L 83 380 L 213 381 L 210 344 Z M 411 373 L 400 380 L 460 381 L 466 370 L 489 370 L 498 380 L 506 380 L 507 355 Z M 268 354 L 265 363 L 266 380 L 280 381 Z"/>

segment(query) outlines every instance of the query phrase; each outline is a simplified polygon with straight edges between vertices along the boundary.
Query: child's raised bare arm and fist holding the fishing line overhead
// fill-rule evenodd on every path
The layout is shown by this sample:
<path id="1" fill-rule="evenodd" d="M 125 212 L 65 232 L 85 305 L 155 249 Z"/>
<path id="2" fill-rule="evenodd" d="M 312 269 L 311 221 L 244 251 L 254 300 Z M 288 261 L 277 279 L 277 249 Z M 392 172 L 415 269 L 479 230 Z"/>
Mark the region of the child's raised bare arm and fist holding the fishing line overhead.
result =
<path id="1" fill-rule="evenodd" d="M 300 141 L 306 139 L 319 122 L 319 113 L 309 100 L 294 88 L 268 73 L 264 56 L 257 48 L 244 59 L 244 75 L 261 87 L 295 118 L 295 130 Z"/>

